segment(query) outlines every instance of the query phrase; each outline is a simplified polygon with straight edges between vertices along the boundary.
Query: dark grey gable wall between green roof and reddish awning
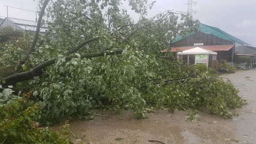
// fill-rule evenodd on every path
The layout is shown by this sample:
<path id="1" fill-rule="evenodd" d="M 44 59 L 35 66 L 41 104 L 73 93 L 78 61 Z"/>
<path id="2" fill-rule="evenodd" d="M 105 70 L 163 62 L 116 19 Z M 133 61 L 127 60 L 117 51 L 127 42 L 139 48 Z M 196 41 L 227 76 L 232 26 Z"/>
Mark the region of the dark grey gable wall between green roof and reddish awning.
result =
<path id="1" fill-rule="evenodd" d="M 203 46 L 215 46 L 215 45 L 233 45 L 233 41 L 218 38 L 216 36 L 198 31 L 192 35 L 183 38 L 171 45 L 171 47 L 189 47 L 194 46 L 195 43 L 203 43 Z"/>

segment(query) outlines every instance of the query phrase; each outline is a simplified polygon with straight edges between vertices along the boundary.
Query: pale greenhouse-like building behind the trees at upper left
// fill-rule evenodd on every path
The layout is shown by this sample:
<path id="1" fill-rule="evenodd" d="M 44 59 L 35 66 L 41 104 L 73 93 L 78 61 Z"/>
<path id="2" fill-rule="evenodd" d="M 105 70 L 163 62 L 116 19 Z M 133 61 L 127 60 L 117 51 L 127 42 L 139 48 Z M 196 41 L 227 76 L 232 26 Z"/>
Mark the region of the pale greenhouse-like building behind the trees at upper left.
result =
<path id="1" fill-rule="evenodd" d="M 16 18 L 5 18 L 0 20 L 0 29 L 4 27 L 11 27 L 14 30 L 21 30 L 24 33 L 27 32 L 34 32 L 37 29 L 37 22 L 36 21 L 29 21 L 29 20 L 22 20 Z M 44 34 L 46 32 L 46 27 L 41 27 L 40 33 Z"/>

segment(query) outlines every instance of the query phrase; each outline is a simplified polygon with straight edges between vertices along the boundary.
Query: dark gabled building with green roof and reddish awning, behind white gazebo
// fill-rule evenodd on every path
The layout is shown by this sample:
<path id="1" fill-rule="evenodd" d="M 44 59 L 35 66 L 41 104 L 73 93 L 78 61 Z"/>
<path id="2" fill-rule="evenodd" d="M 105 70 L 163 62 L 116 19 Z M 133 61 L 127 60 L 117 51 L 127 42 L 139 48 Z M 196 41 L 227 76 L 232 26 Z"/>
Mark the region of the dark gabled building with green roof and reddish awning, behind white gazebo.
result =
<path id="1" fill-rule="evenodd" d="M 184 51 L 194 47 L 201 47 L 214 51 L 217 52 L 218 62 L 234 62 L 235 54 L 256 54 L 256 48 L 252 47 L 250 44 L 223 30 L 202 23 L 200 23 L 198 30 L 187 33 L 185 36 L 177 36 L 171 42 L 170 47 L 171 52 Z M 243 49 L 243 51 L 241 51 L 241 49 Z M 239 53 L 236 53 L 238 51 Z M 167 52 L 167 50 L 163 50 L 162 52 Z M 191 59 L 191 62 L 194 59 L 193 56 L 189 58 Z"/>

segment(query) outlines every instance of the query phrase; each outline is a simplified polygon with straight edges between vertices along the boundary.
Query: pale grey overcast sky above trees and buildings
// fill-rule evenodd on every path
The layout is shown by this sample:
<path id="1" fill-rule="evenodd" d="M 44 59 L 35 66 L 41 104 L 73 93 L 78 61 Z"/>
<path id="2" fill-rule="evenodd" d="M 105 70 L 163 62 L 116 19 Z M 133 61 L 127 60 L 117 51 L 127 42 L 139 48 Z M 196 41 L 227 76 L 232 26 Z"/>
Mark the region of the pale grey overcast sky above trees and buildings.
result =
<path id="1" fill-rule="evenodd" d="M 187 0 L 156 0 L 149 10 L 149 17 L 165 10 L 186 12 Z M 194 0 L 193 6 L 197 13 L 194 18 L 201 23 L 217 27 L 241 40 L 256 46 L 256 0 Z M 9 5 L 22 9 L 37 11 L 37 0 L 0 0 L 0 18 L 6 17 L 6 7 Z M 129 8 L 127 2 L 125 8 Z M 35 21 L 35 13 L 8 8 L 9 17 Z M 131 14 L 136 20 L 138 16 Z"/>

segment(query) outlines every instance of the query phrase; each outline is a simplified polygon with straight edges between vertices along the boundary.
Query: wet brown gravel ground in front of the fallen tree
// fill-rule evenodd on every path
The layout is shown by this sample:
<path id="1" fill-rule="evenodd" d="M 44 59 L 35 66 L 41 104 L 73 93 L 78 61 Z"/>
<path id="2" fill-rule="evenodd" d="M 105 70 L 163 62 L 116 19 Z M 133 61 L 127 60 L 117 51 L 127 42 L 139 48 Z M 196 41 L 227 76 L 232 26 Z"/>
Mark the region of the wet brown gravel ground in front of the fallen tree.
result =
<path id="1" fill-rule="evenodd" d="M 101 111 L 90 121 L 71 120 L 71 130 L 77 135 L 75 143 L 88 144 L 150 144 L 159 140 L 166 144 L 256 144 L 256 70 L 226 74 L 240 90 L 248 105 L 235 109 L 239 116 L 223 119 L 200 112 L 200 121 L 185 121 L 188 111 L 167 110 L 148 114 L 148 119 L 134 119 L 131 112 L 113 115 Z M 58 130 L 58 126 L 52 127 Z"/>

